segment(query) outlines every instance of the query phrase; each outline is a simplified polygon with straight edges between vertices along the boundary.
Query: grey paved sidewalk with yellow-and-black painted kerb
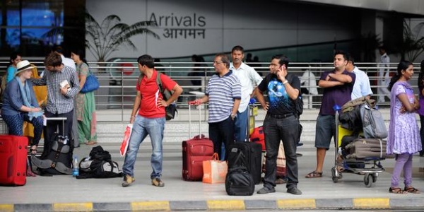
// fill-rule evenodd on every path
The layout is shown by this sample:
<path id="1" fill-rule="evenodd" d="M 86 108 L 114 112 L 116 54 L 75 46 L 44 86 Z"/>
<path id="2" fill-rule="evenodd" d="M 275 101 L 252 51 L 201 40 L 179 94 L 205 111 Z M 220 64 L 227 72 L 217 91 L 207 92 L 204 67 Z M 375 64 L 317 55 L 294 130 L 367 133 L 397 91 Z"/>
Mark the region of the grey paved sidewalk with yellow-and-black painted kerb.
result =
<path id="1" fill-rule="evenodd" d="M 112 153 L 120 167 L 119 143 L 105 143 L 102 147 Z M 76 148 L 75 154 L 83 158 L 91 146 Z M 332 150 L 332 149 L 331 149 Z M 276 187 L 276 193 L 252 196 L 228 196 L 224 184 L 204 184 L 182 180 L 180 143 L 165 143 L 163 180 L 165 187 L 153 187 L 150 180 L 151 143 L 143 143 L 136 161 L 136 182 L 122 187 L 122 178 L 75 179 L 71 176 L 28 177 L 23 187 L 0 187 L 0 211 L 210 211 L 275 208 L 424 208 L 424 194 L 390 194 L 391 174 L 383 172 L 375 186 L 365 187 L 363 176 L 343 173 L 334 183 L 330 168 L 334 165 L 334 151 L 326 156 L 324 176 L 306 179 L 314 169 L 314 147 L 305 144 L 298 149 L 298 188 L 302 195 L 286 193 L 285 184 Z M 393 159 L 382 161 L 390 170 Z M 424 158 L 413 158 L 413 185 L 424 191 Z M 261 189 L 258 184 L 255 191 Z"/>

